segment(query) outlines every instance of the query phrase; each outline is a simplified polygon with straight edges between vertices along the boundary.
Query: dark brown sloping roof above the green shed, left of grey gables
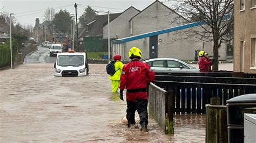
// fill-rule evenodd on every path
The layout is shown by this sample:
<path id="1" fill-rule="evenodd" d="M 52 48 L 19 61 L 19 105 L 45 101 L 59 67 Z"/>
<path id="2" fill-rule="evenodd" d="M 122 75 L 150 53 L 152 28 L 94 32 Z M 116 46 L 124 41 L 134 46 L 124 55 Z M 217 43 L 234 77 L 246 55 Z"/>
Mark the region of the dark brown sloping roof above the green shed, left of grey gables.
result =
<path id="1" fill-rule="evenodd" d="M 113 20 L 114 18 L 118 17 L 121 13 L 112 13 L 110 14 L 110 20 Z M 94 20 L 93 20 L 94 21 Z M 107 15 L 99 15 L 95 18 L 95 22 L 91 22 L 90 26 L 91 28 L 89 31 L 84 32 L 80 37 L 86 37 L 86 36 L 94 36 L 94 35 L 102 35 L 102 27 L 103 24 L 107 22 Z"/>

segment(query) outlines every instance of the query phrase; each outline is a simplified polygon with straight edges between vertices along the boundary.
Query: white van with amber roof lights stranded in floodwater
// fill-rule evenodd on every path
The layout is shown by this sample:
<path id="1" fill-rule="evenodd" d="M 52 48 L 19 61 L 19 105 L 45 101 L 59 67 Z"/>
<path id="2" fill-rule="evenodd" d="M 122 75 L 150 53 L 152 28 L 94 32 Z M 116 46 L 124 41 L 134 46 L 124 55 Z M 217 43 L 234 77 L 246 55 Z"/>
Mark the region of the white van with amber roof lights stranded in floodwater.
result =
<path id="1" fill-rule="evenodd" d="M 54 64 L 55 76 L 85 76 L 89 72 L 87 54 L 77 53 L 58 53 Z"/>

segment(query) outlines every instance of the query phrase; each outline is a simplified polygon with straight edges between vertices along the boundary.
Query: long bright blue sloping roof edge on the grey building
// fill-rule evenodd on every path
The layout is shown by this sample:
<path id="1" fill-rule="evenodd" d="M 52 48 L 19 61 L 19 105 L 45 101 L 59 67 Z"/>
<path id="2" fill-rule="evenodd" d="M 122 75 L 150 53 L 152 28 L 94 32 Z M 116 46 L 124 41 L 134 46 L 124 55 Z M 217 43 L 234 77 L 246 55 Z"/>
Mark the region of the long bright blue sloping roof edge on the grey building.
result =
<path id="1" fill-rule="evenodd" d="M 180 26 L 176 26 L 176 27 L 166 28 L 164 30 L 153 31 L 153 32 L 144 33 L 144 34 L 140 34 L 140 35 L 134 35 L 132 37 L 117 39 L 117 40 L 113 40 L 112 42 L 113 42 L 113 44 L 120 44 L 120 43 L 125 43 L 125 42 L 129 42 L 129 41 L 133 41 L 133 40 L 138 40 L 138 39 L 142 39 L 142 38 L 146 38 L 146 37 L 151 37 L 151 36 L 154 36 L 154 35 L 169 33 L 169 32 L 178 31 L 178 30 L 183 30 L 183 29 L 191 28 L 191 27 L 196 27 L 196 26 L 204 25 L 204 24 L 205 24 L 204 22 L 195 22 L 195 23 L 190 23 L 190 24 L 184 24 L 184 25 L 180 25 Z"/>

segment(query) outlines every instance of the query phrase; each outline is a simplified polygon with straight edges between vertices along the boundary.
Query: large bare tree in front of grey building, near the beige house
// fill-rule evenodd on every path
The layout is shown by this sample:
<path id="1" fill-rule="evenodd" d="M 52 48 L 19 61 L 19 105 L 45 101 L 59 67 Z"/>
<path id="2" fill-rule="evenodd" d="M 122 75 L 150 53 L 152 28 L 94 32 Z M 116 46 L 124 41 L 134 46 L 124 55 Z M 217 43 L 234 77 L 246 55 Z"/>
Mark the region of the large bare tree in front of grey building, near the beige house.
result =
<path id="1" fill-rule="evenodd" d="M 187 0 L 173 6 L 190 22 L 198 22 L 199 28 L 187 31 L 190 37 L 213 41 L 213 70 L 219 69 L 220 45 L 233 39 L 233 6 L 233 0 Z"/>

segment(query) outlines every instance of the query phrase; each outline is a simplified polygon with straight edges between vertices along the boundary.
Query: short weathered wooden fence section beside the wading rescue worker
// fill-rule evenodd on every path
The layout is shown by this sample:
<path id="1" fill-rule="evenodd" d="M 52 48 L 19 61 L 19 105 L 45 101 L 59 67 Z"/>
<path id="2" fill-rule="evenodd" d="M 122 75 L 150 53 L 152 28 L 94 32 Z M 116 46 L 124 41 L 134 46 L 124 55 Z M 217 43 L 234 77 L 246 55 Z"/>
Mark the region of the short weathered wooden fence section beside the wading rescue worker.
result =
<path id="1" fill-rule="evenodd" d="M 149 114 L 167 134 L 173 134 L 173 91 L 149 85 Z"/>

